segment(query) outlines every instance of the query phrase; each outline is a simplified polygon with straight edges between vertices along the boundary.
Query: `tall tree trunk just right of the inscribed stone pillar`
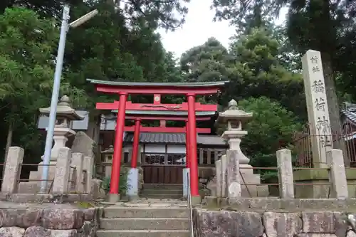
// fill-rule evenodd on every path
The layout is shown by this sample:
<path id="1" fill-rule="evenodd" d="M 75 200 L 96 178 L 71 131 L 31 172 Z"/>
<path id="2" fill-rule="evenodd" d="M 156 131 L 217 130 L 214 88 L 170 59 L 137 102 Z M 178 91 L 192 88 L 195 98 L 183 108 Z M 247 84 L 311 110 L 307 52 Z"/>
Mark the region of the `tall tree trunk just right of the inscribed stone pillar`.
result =
<path id="1" fill-rule="evenodd" d="M 331 57 L 329 53 L 321 53 L 321 57 L 323 62 L 326 97 L 328 98 L 330 126 L 331 126 L 331 131 L 334 135 L 333 148 L 342 150 L 342 153 L 344 155 L 345 167 L 350 167 L 350 159 L 347 154 L 345 141 L 344 139 L 342 139 L 340 107 L 339 107 L 339 101 L 337 100 L 337 93 L 335 89 L 335 81 L 334 81 Z"/>

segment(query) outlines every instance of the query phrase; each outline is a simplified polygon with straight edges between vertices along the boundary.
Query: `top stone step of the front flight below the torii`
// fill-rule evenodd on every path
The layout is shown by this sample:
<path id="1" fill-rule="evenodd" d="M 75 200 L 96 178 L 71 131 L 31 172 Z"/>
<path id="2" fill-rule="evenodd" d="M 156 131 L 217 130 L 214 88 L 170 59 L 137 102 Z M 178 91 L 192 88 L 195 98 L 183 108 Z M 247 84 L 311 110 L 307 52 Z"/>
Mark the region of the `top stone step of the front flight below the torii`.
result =
<path id="1" fill-rule="evenodd" d="M 179 207 L 127 207 L 110 206 L 104 209 L 105 218 L 189 218 L 189 209 Z"/>

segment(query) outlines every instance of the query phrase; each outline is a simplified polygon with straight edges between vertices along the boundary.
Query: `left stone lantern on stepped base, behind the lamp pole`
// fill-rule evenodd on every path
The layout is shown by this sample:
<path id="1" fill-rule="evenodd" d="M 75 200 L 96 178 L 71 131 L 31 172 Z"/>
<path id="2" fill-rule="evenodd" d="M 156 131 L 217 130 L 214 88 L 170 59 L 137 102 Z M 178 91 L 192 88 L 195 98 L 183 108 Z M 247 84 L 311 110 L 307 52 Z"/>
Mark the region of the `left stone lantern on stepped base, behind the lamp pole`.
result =
<path id="1" fill-rule="evenodd" d="M 49 115 L 51 107 L 40 108 L 42 115 Z M 54 145 L 51 151 L 51 160 L 50 167 L 48 172 L 48 179 L 54 179 L 56 175 L 56 163 L 59 155 L 59 150 L 63 147 L 66 147 L 66 142 L 68 137 L 75 135 L 75 132 L 70 129 L 70 121 L 73 120 L 83 120 L 84 117 L 78 115 L 77 112 L 71 107 L 70 100 L 67 95 L 63 95 L 61 100 L 59 100 L 57 105 L 56 113 L 56 126 L 53 131 L 53 140 Z M 43 159 L 43 156 L 41 157 Z M 39 163 L 38 171 L 30 173 L 30 180 L 39 180 L 41 179 L 41 174 L 43 162 Z M 29 181 L 27 183 L 21 183 L 19 186 L 19 192 L 22 193 L 33 193 L 38 191 L 38 181 Z M 48 186 L 51 186 L 51 181 L 48 181 Z"/>

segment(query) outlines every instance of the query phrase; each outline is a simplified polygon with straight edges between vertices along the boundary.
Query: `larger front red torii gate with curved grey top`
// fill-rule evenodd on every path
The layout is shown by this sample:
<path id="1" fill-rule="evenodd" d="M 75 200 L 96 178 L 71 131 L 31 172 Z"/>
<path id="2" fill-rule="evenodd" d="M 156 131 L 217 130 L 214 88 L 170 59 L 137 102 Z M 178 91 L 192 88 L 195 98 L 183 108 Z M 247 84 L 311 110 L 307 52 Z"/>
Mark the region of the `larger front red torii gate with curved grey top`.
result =
<path id="1" fill-rule="evenodd" d="M 105 80 L 88 79 L 95 85 L 98 92 L 115 93 L 120 95 L 120 100 L 113 103 L 97 103 L 97 109 L 117 110 L 117 125 L 115 131 L 114 154 L 112 157 L 112 175 L 110 180 L 110 201 L 119 199 L 120 164 L 122 156 L 122 139 L 125 130 L 126 110 L 172 110 L 187 111 L 187 139 L 189 139 L 189 164 L 190 189 L 193 199 L 199 196 L 198 164 L 197 164 L 197 127 L 196 111 L 216 111 L 216 105 L 201 105 L 195 102 L 197 95 L 212 95 L 219 91 L 226 82 L 218 83 L 125 83 Z M 154 95 L 154 104 L 133 104 L 127 101 L 127 96 L 132 94 Z M 156 95 L 159 95 L 156 100 Z M 185 95 L 187 102 L 182 105 L 169 105 L 160 103 L 160 95 Z M 135 126 L 136 127 L 136 126 Z"/>

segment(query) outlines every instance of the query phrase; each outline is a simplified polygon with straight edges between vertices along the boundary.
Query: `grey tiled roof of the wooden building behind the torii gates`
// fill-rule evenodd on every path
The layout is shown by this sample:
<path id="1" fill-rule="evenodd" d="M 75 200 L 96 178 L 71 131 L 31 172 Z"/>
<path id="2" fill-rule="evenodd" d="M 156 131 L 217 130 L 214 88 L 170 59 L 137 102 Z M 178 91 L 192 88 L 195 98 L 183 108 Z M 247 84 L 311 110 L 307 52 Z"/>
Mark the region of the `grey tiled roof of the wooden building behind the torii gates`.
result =
<path id="1" fill-rule="evenodd" d="M 128 132 L 124 138 L 124 142 L 133 142 L 133 133 Z M 169 144 L 185 144 L 184 133 L 164 133 L 164 132 L 141 132 L 140 142 L 142 143 L 169 143 Z M 223 139 L 219 136 L 198 135 L 198 144 L 224 145 Z"/>

